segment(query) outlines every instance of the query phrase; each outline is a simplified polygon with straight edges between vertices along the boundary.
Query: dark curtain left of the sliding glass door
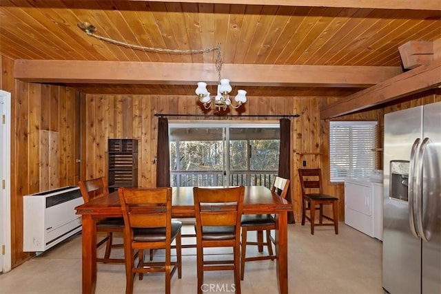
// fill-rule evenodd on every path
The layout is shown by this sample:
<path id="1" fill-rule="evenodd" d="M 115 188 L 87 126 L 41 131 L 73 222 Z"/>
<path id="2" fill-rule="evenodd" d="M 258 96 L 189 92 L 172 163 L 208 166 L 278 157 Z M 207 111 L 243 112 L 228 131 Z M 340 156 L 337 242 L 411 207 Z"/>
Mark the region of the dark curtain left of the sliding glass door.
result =
<path id="1" fill-rule="evenodd" d="M 158 149 L 156 154 L 156 187 L 170 187 L 170 147 L 167 118 L 158 118 Z"/>

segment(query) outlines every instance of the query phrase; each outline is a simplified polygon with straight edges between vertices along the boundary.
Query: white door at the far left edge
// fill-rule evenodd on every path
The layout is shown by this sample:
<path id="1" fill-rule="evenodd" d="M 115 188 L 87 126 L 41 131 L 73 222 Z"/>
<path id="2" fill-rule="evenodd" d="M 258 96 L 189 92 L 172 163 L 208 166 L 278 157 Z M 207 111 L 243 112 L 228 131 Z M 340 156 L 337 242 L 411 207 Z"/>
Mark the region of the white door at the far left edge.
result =
<path id="1" fill-rule="evenodd" d="M 11 269 L 10 113 L 11 94 L 0 90 L 0 272 Z"/>

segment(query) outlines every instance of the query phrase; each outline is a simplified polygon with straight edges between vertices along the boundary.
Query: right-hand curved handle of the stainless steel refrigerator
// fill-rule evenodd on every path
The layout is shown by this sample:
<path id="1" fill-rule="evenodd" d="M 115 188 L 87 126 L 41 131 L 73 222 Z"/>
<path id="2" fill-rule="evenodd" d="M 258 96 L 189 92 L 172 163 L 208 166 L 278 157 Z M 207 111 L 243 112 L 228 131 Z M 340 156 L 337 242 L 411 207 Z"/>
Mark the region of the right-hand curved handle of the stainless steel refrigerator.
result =
<path id="1" fill-rule="evenodd" d="M 424 162 L 424 153 L 426 151 L 427 145 L 429 145 L 430 139 L 424 138 L 418 150 L 418 166 L 416 169 L 416 211 L 417 211 L 417 228 L 418 233 L 422 240 L 429 242 L 429 238 L 424 233 L 424 228 L 422 227 L 422 169 Z"/>

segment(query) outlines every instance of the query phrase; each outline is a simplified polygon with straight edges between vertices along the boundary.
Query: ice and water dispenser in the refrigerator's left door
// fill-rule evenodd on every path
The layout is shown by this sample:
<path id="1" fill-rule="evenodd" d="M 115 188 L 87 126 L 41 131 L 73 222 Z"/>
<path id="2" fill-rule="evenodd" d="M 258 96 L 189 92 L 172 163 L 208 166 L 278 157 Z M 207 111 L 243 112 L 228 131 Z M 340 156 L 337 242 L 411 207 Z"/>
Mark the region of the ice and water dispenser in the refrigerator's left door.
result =
<path id="1" fill-rule="evenodd" d="M 391 198 L 407 201 L 407 186 L 409 185 L 409 160 L 391 160 L 390 162 Z"/>

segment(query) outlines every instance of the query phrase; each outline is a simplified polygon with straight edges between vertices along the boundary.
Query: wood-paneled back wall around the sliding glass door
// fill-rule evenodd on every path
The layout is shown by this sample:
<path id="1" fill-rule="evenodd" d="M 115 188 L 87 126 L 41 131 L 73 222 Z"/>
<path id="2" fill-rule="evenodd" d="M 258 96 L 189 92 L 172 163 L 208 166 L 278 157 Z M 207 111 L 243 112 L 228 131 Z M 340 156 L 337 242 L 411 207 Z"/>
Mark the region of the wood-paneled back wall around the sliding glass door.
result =
<path id="1" fill-rule="evenodd" d="M 294 199 L 294 215 L 300 220 L 301 191 L 297 169 L 303 160 L 308 168 L 322 167 L 328 182 L 329 169 L 327 149 L 327 122 L 320 123 L 319 107 L 332 99 L 323 97 L 248 97 L 242 114 L 274 115 L 300 114 L 291 118 L 291 199 Z M 82 160 L 81 178 L 107 176 L 107 139 L 136 138 L 139 140 L 140 187 L 152 187 L 156 182 L 157 117 L 162 114 L 202 114 L 203 109 L 196 104 L 195 96 L 152 96 L 152 95 L 94 95 L 82 98 L 83 117 L 81 123 Z M 236 114 L 235 111 L 232 114 Z M 380 111 L 373 110 L 347 116 L 347 119 L 377 120 Z M 203 120 L 205 118 L 194 118 Z M 208 119 L 208 118 L 207 118 Z M 213 118 L 209 118 L 213 119 Z M 225 120 L 220 116 L 219 120 Z M 276 120 L 278 118 L 229 118 L 231 120 Z M 186 116 L 172 117 L 170 120 L 189 120 Z M 325 185 L 325 191 L 340 197 L 340 219 L 344 215 L 342 185 Z"/>

